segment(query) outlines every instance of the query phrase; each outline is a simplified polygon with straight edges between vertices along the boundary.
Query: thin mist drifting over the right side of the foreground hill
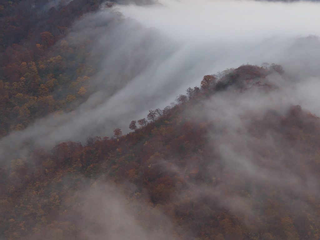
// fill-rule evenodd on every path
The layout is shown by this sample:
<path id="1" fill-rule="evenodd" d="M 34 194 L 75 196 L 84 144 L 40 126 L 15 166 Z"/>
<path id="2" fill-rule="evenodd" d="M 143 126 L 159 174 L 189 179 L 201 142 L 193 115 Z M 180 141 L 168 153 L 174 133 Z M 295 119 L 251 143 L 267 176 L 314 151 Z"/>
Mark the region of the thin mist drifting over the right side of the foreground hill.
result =
<path id="1" fill-rule="evenodd" d="M 319 83 L 312 77 L 304 80 L 304 86 L 301 82 L 296 84 L 291 81 L 295 87 L 285 88 L 288 81 L 286 76 L 269 75 L 260 79 L 261 83 L 277 84 L 281 91 L 261 94 L 250 90 L 239 93 L 231 88 L 206 100 L 201 111 L 186 110 L 186 114 L 196 123 L 213 123 L 208 136 L 212 142 L 211 151 L 217 157 L 211 160 L 208 176 L 223 178 L 225 172 L 228 174 L 228 177 L 215 187 L 198 182 L 189 183 L 189 187 L 194 192 L 197 189 L 211 196 L 221 207 L 244 220 L 249 228 L 263 228 L 260 217 L 267 208 L 261 208 L 257 203 L 261 201 L 266 204 L 265 200 L 272 198 L 272 194 L 267 193 L 271 189 L 277 199 L 285 202 L 285 211 L 296 216 L 304 214 L 303 209 L 315 211 L 306 200 L 307 196 L 320 196 L 318 173 L 312 170 L 307 160 L 307 151 L 312 152 L 314 148 L 304 146 L 303 140 L 297 140 L 296 146 L 292 145 L 283 132 L 273 128 L 277 125 L 277 120 L 268 116 L 270 111 L 282 116 L 287 115 L 292 102 L 301 102 L 304 106 L 318 110 L 318 97 L 313 92 L 319 89 Z M 256 120 L 261 121 L 267 129 L 255 130 L 258 136 L 250 133 L 251 127 L 259 128 L 254 124 Z M 268 124 L 272 127 L 268 128 Z M 193 163 L 190 161 L 189 164 Z M 244 192 L 239 194 L 243 189 Z M 302 239 L 302 236 L 299 239 Z"/>

